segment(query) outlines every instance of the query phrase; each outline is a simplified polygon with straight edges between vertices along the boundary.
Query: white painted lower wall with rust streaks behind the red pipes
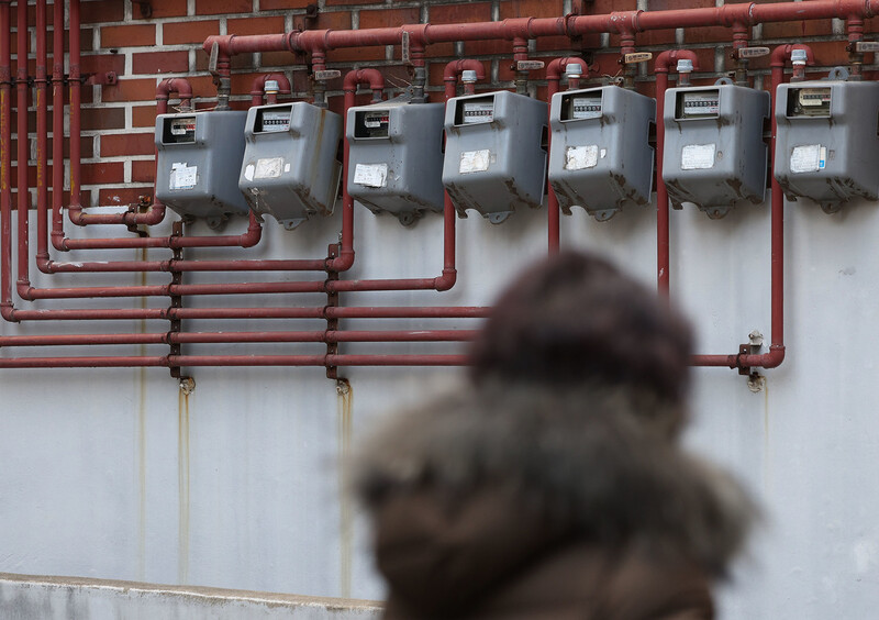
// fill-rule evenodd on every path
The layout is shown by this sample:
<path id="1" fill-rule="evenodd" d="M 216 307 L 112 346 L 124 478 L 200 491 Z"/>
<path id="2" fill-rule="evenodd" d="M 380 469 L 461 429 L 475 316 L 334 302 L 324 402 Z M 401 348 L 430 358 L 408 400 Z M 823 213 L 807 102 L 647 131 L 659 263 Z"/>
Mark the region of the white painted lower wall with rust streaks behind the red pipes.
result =
<path id="1" fill-rule="evenodd" d="M 460 221 L 459 283 L 452 291 L 346 294 L 343 303 L 489 303 L 520 266 L 545 252 L 545 218 L 541 210 L 518 213 L 499 226 L 476 215 Z M 653 209 L 631 209 L 604 223 L 576 210 L 563 218 L 563 243 L 604 252 L 653 283 L 655 221 Z M 322 256 L 336 239 L 338 218 L 309 222 L 294 232 L 274 222 L 266 228 L 262 254 L 252 250 L 187 255 Z M 749 391 L 734 370 L 697 369 L 694 377 L 689 443 L 734 469 L 767 513 L 750 560 L 723 589 L 723 618 L 870 618 L 879 608 L 879 264 L 872 256 L 879 210 L 860 203 L 826 215 L 815 204 L 790 203 L 786 233 L 785 364 L 764 373 L 766 387 L 759 394 Z M 349 277 L 438 275 L 441 218 L 429 217 L 407 230 L 392 218 L 358 209 L 357 252 Z M 104 253 L 101 258 L 104 255 L 114 256 Z M 700 353 L 735 353 L 755 329 L 768 342 L 768 203 L 743 207 L 720 221 L 694 209 L 674 212 L 671 255 L 672 296 L 693 319 Z M 149 253 L 160 256 L 166 254 Z M 187 276 L 186 281 L 219 281 L 218 277 Z M 42 286 L 97 281 L 82 275 L 34 280 Z M 112 281 L 136 284 L 125 276 Z M 147 281 L 167 281 L 167 276 Z M 320 306 L 323 299 L 222 302 Z M 393 329 L 476 322 L 347 324 Z M 311 328 L 322 324 L 188 324 L 191 330 Z M 0 333 L 58 329 L 48 323 L 3 324 Z M 76 329 L 159 331 L 166 325 Z M 148 351 L 154 350 L 156 355 L 167 352 L 162 346 Z M 343 346 L 352 353 L 457 350 L 443 344 Z M 125 347 L 107 351 L 126 353 Z M 322 348 L 202 345 L 185 351 Z M 2 356 L 20 353 L 0 350 Z M 418 399 L 455 373 L 345 369 L 353 387 L 348 417 L 321 368 L 196 368 L 196 391 L 188 398 L 166 369 L 2 370 L 0 572 L 380 598 L 382 586 L 371 568 L 364 523 L 352 524 L 351 506 L 341 499 L 337 463 L 351 442 L 387 411 Z"/>

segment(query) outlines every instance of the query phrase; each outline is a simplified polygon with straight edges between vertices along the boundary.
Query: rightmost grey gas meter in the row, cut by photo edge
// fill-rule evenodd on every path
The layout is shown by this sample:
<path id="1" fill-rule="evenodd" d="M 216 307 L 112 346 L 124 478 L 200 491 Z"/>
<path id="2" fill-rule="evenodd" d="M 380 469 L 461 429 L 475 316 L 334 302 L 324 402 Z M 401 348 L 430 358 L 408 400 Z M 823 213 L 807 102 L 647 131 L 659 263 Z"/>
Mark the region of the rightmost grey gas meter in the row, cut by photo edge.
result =
<path id="1" fill-rule="evenodd" d="M 789 199 L 833 212 L 856 197 L 879 198 L 879 84 L 783 84 L 775 113 L 775 176 Z"/>

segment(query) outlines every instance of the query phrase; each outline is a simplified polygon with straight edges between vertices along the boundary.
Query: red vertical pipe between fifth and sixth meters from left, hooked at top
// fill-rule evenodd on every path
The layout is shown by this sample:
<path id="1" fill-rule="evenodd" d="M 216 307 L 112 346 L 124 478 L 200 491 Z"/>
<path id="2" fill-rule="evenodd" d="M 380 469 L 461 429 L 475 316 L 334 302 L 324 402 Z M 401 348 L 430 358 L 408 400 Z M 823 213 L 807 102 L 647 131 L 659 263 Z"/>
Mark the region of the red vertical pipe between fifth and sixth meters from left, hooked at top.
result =
<path id="1" fill-rule="evenodd" d="M 667 49 L 656 57 L 654 74 L 656 75 L 656 264 L 659 294 L 668 296 L 669 289 L 669 220 L 668 189 L 663 180 L 663 154 L 665 153 L 666 132 L 663 124 L 665 97 L 668 89 L 669 67 L 679 59 L 689 59 L 693 69 L 699 70 L 699 58 L 689 49 Z"/>

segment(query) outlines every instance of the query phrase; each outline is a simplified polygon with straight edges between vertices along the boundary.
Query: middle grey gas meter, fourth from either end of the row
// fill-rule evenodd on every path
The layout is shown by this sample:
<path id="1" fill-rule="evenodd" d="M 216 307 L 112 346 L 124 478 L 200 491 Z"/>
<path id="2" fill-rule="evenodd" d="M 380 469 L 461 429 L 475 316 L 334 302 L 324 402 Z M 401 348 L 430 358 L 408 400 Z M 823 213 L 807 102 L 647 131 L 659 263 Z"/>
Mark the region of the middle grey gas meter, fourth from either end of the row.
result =
<path id="1" fill-rule="evenodd" d="M 546 103 L 501 90 L 448 100 L 443 185 L 458 213 L 491 222 L 537 208 L 546 177 Z"/>

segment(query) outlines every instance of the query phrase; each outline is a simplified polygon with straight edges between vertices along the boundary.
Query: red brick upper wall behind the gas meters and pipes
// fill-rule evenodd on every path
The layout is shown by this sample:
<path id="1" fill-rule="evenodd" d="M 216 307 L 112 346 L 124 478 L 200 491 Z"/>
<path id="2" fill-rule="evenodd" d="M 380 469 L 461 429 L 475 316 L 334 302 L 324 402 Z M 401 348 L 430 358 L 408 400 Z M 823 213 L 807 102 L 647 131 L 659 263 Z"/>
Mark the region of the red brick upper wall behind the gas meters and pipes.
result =
<path id="1" fill-rule="evenodd" d="M 315 1 L 316 0 L 312 0 Z M 396 26 L 401 23 L 455 23 L 502 20 L 516 16 L 556 16 L 571 9 L 564 0 L 486 0 L 455 1 L 391 1 L 322 0 L 315 20 L 305 21 L 309 0 L 151 0 L 152 16 L 141 15 L 140 5 L 129 0 L 82 0 L 84 71 L 113 70 L 120 76 L 115 86 L 86 87 L 84 101 L 84 187 L 91 189 L 91 204 L 125 204 L 143 193 L 149 193 L 153 180 L 152 140 L 155 120 L 155 87 L 165 77 L 186 76 L 190 79 L 197 106 L 214 104 L 215 90 L 207 71 L 208 57 L 201 49 L 211 34 L 282 33 L 308 25 L 309 29 L 351 29 Z M 636 0 L 575 1 L 587 13 L 605 13 L 637 8 Z M 646 3 L 644 3 L 646 4 Z M 713 7 L 714 0 L 653 0 L 649 10 Z M 33 10 L 33 8 L 32 8 Z M 51 11 L 49 11 L 51 12 Z M 872 24 L 867 23 L 867 32 Z M 639 49 L 657 53 L 675 46 L 697 49 L 703 70 L 728 69 L 731 31 L 724 27 L 689 29 L 676 38 L 675 31 L 657 31 L 637 36 Z M 758 27 L 752 45 L 772 46 L 783 42 L 809 41 L 820 67 L 845 64 L 842 24 L 831 20 L 808 23 L 767 24 Z M 868 38 L 870 36 L 868 35 Z M 601 75 L 619 71 L 619 37 L 589 35 L 570 42 L 565 37 L 532 43 L 532 56 L 549 60 L 570 52 L 586 52 Z M 467 42 L 430 46 L 429 91 L 436 100 L 442 91 L 444 65 L 457 57 L 476 57 L 486 62 L 491 79 L 487 88 L 510 88 L 512 45 L 510 42 Z M 872 58 L 868 56 L 868 62 Z M 249 101 L 251 84 L 256 75 L 286 71 L 293 84 L 294 97 L 307 98 L 309 78 L 305 58 L 290 53 L 247 54 L 233 62 L 233 106 L 244 108 Z M 409 79 L 400 62 L 399 48 L 340 49 L 327 54 L 329 68 L 374 66 L 387 76 L 389 85 L 403 87 Z M 653 93 L 650 64 L 641 69 L 638 90 Z M 763 85 L 768 70 L 767 59 L 753 62 L 756 86 Z M 874 68 L 872 66 L 868 68 Z M 533 71 L 538 97 L 545 96 L 543 71 Z M 767 80 L 768 81 L 768 80 Z M 330 107 L 342 104 L 340 80 L 329 84 Z M 366 96 L 364 96 L 366 97 Z M 364 102 L 366 99 L 364 99 Z M 94 191 L 98 190 L 98 191 Z M 88 196 L 84 196 L 86 203 Z"/>

